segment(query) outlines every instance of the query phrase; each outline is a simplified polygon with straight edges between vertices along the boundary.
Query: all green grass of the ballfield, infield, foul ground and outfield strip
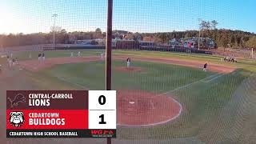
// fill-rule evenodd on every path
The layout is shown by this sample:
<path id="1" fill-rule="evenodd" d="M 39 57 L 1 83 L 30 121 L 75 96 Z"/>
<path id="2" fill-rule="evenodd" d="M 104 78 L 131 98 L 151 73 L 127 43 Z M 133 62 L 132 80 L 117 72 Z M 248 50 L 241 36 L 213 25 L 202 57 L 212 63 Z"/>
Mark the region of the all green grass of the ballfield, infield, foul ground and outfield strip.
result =
<path id="1" fill-rule="evenodd" d="M 81 50 L 82 55 L 100 55 L 102 50 Z M 28 52 L 15 54 L 27 59 Z M 38 52 L 33 52 L 33 55 Z M 154 62 L 133 62 L 140 66 L 140 73 L 125 73 L 114 70 L 125 66 L 120 61 L 113 62 L 114 90 L 146 90 L 164 93 L 180 86 L 193 85 L 175 90 L 169 94 L 182 103 L 182 115 L 173 122 L 146 128 L 118 127 L 118 138 L 198 138 L 206 143 L 246 143 L 247 135 L 255 138 L 255 86 L 256 62 L 239 60 L 231 64 L 221 62 L 218 56 L 202 54 L 180 54 L 170 52 L 114 50 L 114 55 L 194 59 L 214 62 L 239 69 L 210 82 L 198 82 L 212 72 L 185 66 L 159 64 Z M 69 57 L 70 51 L 47 51 L 49 57 Z M 0 59 L 1 61 L 1 59 Z M 2 60 L 4 62 L 4 60 Z M 14 73 L 14 74 L 13 74 Z M 13 70 L 10 78 L 14 82 L 0 81 L 0 94 L 5 90 L 104 90 L 105 63 L 82 62 L 54 66 L 38 73 L 26 70 Z M 209 80 L 209 78 L 207 78 Z"/>

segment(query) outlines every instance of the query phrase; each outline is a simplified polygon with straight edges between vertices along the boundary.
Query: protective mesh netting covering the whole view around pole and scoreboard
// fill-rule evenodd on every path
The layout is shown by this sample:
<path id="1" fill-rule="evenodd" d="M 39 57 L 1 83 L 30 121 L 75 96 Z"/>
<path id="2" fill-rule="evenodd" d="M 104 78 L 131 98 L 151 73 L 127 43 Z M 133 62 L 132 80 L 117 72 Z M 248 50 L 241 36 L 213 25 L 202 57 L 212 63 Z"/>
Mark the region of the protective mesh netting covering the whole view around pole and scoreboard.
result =
<path id="1" fill-rule="evenodd" d="M 0 111 L 6 90 L 105 89 L 106 0 L 0 3 Z M 112 142 L 254 143 L 255 4 L 114 0 Z M 0 117 L 3 143 L 106 143 L 8 139 Z"/>

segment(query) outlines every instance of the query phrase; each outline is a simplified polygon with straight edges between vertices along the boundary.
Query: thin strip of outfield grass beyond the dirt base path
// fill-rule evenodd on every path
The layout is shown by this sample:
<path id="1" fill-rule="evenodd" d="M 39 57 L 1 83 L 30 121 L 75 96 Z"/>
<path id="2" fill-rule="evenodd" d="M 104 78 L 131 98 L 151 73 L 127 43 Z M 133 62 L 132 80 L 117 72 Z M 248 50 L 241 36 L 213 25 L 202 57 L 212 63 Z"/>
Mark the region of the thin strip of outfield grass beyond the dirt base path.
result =
<path id="1" fill-rule="evenodd" d="M 52 50 L 45 51 L 46 58 L 56 58 L 56 57 L 70 57 L 70 52 L 73 51 L 77 54 L 81 51 L 83 56 L 98 55 L 104 50 Z M 19 60 L 29 59 L 29 54 L 32 54 L 32 58 L 38 58 L 38 51 L 32 52 L 19 52 L 15 53 L 14 57 Z M 206 55 L 206 54 L 186 54 L 178 52 L 161 52 L 161 51 L 147 51 L 147 50 L 113 50 L 114 55 L 136 55 L 136 56 L 147 56 L 147 57 L 157 57 L 157 58 L 179 58 L 179 59 L 191 59 L 198 60 L 202 62 L 212 62 L 216 64 L 222 64 L 226 66 L 234 66 L 240 69 L 248 70 L 250 72 L 256 72 L 256 61 L 251 59 L 238 59 L 238 63 L 222 62 L 221 56 L 218 55 Z M 2 59 L 2 60 L 1 60 Z M 0 58 L 0 62 L 5 62 L 5 58 Z"/>

